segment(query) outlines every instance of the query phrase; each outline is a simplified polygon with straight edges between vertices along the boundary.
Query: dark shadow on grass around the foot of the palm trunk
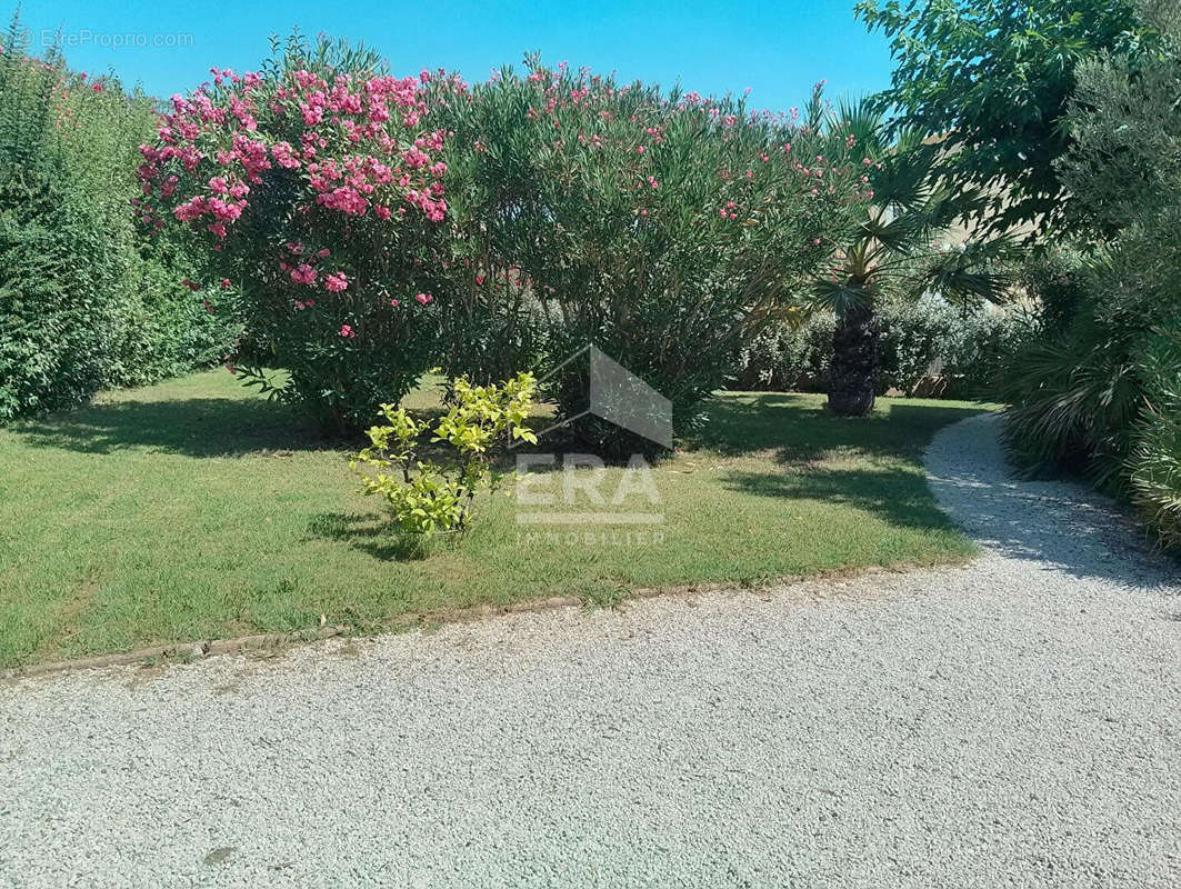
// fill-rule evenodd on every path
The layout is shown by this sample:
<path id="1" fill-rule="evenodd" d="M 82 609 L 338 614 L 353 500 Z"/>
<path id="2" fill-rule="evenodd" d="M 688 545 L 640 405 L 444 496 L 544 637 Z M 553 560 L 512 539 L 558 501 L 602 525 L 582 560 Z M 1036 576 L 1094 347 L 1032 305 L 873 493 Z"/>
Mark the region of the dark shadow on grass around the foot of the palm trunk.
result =
<path id="1" fill-rule="evenodd" d="M 937 430 L 980 408 L 879 399 L 868 417 L 837 417 L 815 396 L 757 392 L 715 398 L 707 413 L 710 421 L 687 437 L 687 447 L 726 457 L 774 449 L 779 463 L 811 463 L 843 450 L 919 459 Z"/>

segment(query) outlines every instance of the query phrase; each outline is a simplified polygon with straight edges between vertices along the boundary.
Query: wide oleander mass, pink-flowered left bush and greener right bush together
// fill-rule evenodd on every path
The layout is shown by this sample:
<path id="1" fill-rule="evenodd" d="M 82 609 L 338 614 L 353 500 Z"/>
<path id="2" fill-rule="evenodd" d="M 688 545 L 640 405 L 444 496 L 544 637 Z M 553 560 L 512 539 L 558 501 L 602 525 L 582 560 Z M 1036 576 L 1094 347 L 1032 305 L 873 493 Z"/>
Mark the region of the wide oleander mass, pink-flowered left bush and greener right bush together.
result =
<path id="1" fill-rule="evenodd" d="M 536 58 L 475 87 L 396 79 L 293 38 L 172 97 L 138 213 L 229 282 L 235 370 L 326 425 L 361 426 L 430 366 L 489 383 L 595 344 L 684 429 L 870 196 L 846 129 L 820 87 L 777 117 Z M 570 364 L 550 394 L 569 416 L 586 385 Z"/>

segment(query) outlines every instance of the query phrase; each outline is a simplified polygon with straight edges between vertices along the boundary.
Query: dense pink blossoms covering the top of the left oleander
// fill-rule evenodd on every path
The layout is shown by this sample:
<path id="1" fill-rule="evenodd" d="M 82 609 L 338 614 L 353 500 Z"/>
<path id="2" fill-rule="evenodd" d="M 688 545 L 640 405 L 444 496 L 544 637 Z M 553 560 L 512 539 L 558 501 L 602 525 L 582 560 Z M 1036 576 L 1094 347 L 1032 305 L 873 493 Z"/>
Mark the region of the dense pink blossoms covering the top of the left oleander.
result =
<path id="1" fill-rule="evenodd" d="M 400 79 L 340 73 L 331 81 L 306 68 L 278 78 L 211 73 L 211 86 L 171 98 L 158 142 L 139 149 L 145 200 L 137 207 L 155 228 L 170 210 L 223 238 L 248 210 L 250 189 L 266 187 L 273 169 L 300 172 L 305 213 L 372 211 L 387 222 L 418 208 L 430 222 L 445 217 L 446 165 L 437 159 L 445 133 L 419 128 L 430 112 L 425 72 Z"/>

